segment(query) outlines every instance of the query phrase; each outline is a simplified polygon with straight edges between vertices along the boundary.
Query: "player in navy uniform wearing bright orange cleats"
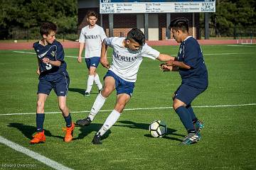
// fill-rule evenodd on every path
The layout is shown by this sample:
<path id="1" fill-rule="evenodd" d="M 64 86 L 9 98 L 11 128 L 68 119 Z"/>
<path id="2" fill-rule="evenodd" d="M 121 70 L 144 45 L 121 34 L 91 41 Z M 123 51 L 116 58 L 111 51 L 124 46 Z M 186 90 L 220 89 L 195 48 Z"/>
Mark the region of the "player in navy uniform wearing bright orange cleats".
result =
<path id="1" fill-rule="evenodd" d="M 65 142 L 73 139 L 73 130 L 75 123 L 72 123 L 71 115 L 66 105 L 68 86 L 70 79 L 66 70 L 67 64 L 64 61 L 63 46 L 55 40 L 57 26 L 51 22 L 41 24 L 40 33 L 42 39 L 33 44 L 38 58 L 39 83 L 38 83 L 38 100 L 36 106 L 36 135 L 33 136 L 31 144 L 46 142 L 44 135 L 43 122 L 45 119 L 44 106 L 46 98 L 53 89 L 58 96 L 58 106 L 65 119 Z"/>

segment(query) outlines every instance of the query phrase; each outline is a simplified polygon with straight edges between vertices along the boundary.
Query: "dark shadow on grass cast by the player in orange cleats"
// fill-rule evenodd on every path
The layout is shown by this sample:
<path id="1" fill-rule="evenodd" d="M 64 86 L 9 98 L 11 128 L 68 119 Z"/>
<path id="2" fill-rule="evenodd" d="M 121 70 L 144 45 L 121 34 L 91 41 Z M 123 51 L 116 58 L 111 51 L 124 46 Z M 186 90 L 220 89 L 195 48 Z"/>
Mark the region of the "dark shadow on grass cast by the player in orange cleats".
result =
<path id="1" fill-rule="evenodd" d="M 31 125 L 23 125 L 23 123 L 9 123 L 8 125 L 11 128 L 16 128 L 19 131 L 23 133 L 25 137 L 28 139 L 32 140 L 33 139 L 33 134 L 36 132 L 36 127 L 31 126 Z M 63 139 L 64 136 L 58 136 L 58 135 L 52 135 L 49 130 L 44 130 L 45 135 L 48 137 L 57 137 L 60 139 Z"/>

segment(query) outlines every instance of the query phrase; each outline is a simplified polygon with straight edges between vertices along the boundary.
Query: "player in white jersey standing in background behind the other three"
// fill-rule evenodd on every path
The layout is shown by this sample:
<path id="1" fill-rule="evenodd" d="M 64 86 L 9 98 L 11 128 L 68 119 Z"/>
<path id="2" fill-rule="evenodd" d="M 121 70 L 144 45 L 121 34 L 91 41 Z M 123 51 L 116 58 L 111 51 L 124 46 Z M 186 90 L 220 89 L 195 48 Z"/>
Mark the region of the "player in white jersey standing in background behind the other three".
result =
<path id="1" fill-rule="evenodd" d="M 85 63 L 87 69 L 89 70 L 89 77 L 87 79 L 87 89 L 85 90 L 85 96 L 90 96 L 90 91 L 92 89 L 93 81 L 100 90 L 102 89 L 102 84 L 100 83 L 100 78 L 96 73 L 96 68 L 100 63 L 100 50 L 102 41 L 107 38 L 102 27 L 97 26 L 98 15 L 94 11 L 88 11 L 86 14 L 88 26 L 82 28 L 80 33 L 80 46 L 78 54 L 78 62 L 82 62 L 82 50 L 85 46 Z"/>

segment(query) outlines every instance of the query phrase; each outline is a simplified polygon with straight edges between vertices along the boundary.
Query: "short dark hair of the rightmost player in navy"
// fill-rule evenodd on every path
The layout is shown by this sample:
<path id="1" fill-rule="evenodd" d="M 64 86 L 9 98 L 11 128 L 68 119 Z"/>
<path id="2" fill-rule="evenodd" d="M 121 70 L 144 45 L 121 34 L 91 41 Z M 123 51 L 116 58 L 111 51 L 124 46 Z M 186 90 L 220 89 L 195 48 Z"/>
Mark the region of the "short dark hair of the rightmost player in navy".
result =
<path id="1" fill-rule="evenodd" d="M 184 17 L 175 18 L 169 25 L 169 30 L 171 30 L 171 28 L 174 28 L 174 30 L 182 30 L 182 32 L 188 32 L 188 19 Z"/>

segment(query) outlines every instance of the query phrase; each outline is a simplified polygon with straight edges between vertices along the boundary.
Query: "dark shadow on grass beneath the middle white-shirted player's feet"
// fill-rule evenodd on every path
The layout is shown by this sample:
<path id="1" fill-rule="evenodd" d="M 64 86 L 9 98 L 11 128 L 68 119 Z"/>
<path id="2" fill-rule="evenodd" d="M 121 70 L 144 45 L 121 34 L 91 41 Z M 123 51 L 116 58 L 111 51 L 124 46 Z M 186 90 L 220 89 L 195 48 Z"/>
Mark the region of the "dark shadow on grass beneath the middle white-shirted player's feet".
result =
<path id="1" fill-rule="evenodd" d="M 100 130 L 100 128 L 102 128 L 102 124 L 99 123 L 91 123 L 90 125 L 87 126 L 78 126 L 75 125 L 75 128 L 80 128 L 80 134 L 78 135 L 78 137 L 75 137 L 73 140 L 82 140 L 84 137 L 86 137 L 87 135 L 89 135 L 90 133 L 96 133 L 98 130 Z M 100 138 L 101 140 L 105 140 L 107 137 L 109 137 L 111 133 L 111 130 L 107 130 L 107 132 Z"/>

